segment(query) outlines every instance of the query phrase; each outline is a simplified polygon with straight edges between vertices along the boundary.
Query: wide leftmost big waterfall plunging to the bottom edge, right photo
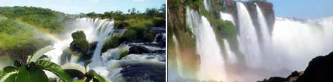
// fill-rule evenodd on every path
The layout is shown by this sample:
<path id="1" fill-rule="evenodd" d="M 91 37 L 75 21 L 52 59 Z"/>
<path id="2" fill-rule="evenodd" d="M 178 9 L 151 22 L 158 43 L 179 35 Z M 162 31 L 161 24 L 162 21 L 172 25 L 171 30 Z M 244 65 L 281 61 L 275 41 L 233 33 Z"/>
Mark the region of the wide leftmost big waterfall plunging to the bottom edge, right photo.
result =
<path id="1" fill-rule="evenodd" d="M 187 17 L 191 19 L 194 33 L 196 35 L 196 50 L 200 55 L 200 70 L 198 77 L 201 80 L 213 79 L 215 81 L 226 81 L 224 60 L 220 46 L 216 40 L 215 33 L 209 21 L 204 16 L 187 8 Z M 188 24 L 189 25 L 189 24 Z M 207 71 L 209 70 L 209 71 Z"/>

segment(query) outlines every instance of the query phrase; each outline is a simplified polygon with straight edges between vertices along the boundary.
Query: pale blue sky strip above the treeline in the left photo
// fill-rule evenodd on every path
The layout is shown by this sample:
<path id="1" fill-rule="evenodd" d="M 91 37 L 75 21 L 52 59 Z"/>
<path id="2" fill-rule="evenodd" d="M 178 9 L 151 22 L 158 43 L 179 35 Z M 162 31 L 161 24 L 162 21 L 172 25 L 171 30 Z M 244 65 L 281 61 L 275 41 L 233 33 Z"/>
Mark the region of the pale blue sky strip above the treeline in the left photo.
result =
<path id="1" fill-rule="evenodd" d="M 127 13 L 129 8 L 144 12 L 146 8 L 160 8 L 163 3 L 166 3 L 166 0 L 0 0 L 0 6 L 35 6 L 67 14 L 104 13 L 115 10 Z"/>

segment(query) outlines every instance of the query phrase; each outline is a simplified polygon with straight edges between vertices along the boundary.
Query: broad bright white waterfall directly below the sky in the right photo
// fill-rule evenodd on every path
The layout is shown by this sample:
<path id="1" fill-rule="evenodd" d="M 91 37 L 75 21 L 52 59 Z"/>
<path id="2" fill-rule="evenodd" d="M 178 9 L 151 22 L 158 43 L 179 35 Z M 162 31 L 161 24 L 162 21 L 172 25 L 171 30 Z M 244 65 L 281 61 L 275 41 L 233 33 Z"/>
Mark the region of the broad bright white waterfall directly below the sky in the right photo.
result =
<path id="1" fill-rule="evenodd" d="M 327 55 L 332 46 L 332 16 L 312 23 L 301 23 L 289 18 L 276 18 L 272 43 L 280 53 L 278 63 L 291 70 L 304 70 L 308 61 L 318 55 Z M 283 68 L 282 67 L 282 68 Z M 281 68 L 281 67 L 280 67 Z"/>

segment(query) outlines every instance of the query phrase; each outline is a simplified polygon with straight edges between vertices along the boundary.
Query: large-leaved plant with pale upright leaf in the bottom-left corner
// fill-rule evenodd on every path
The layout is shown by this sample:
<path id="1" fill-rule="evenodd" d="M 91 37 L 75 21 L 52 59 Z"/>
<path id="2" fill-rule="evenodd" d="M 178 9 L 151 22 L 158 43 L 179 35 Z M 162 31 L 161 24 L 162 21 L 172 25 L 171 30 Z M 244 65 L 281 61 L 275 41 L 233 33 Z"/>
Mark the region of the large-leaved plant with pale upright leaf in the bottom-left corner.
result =
<path id="1" fill-rule="evenodd" d="M 71 82 L 72 78 L 67 72 L 61 69 L 61 66 L 49 61 L 44 53 L 53 50 L 53 47 L 46 46 L 37 51 L 34 55 L 28 57 L 28 62 L 15 61 L 14 66 L 6 66 L 1 70 L 1 82 L 48 82 L 44 70 L 53 72 L 61 81 Z"/>

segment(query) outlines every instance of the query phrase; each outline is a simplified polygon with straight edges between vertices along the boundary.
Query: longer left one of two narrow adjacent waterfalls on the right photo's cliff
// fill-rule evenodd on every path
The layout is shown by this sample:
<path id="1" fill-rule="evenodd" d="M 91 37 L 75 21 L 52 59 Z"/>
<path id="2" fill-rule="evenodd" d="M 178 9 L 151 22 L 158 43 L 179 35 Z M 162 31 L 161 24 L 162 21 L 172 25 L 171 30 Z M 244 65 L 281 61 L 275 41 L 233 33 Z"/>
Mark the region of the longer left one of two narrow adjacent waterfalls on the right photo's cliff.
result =
<path id="1" fill-rule="evenodd" d="M 245 5 L 241 2 L 236 2 L 236 4 L 238 10 L 240 51 L 245 54 L 248 66 L 258 67 L 260 66 L 261 57 L 256 29 Z"/>

